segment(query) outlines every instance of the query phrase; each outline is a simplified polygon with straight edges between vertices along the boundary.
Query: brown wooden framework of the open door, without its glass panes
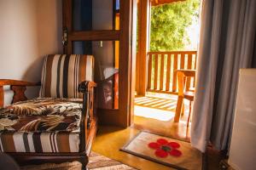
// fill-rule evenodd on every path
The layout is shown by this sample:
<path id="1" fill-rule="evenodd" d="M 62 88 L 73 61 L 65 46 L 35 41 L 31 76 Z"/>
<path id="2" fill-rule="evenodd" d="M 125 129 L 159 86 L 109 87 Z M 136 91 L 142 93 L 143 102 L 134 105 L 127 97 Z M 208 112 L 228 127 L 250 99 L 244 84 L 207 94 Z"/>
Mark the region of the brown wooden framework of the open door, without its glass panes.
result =
<path id="1" fill-rule="evenodd" d="M 65 54 L 72 54 L 74 40 L 119 41 L 119 109 L 98 109 L 99 122 L 105 125 L 128 127 L 133 119 L 133 99 L 135 77 L 136 35 L 132 35 L 133 10 L 136 0 L 120 0 L 120 30 L 119 31 L 73 31 L 72 0 L 63 0 L 63 31 L 67 31 L 67 44 L 63 47 Z"/>

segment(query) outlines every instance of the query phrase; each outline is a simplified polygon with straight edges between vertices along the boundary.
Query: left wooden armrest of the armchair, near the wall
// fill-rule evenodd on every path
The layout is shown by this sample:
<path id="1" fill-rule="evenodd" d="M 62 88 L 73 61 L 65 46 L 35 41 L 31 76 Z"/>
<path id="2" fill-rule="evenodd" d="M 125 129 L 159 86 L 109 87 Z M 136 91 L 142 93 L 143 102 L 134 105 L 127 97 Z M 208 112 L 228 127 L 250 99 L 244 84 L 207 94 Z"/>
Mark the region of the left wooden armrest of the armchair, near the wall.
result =
<path id="1" fill-rule="evenodd" d="M 40 86 L 40 82 L 24 82 L 11 79 L 0 79 L 0 107 L 4 104 L 4 91 L 3 86 L 10 85 L 11 90 L 14 91 L 14 97 L 12 103 L 17 101 L 26 100 L 26 86 Z"/>

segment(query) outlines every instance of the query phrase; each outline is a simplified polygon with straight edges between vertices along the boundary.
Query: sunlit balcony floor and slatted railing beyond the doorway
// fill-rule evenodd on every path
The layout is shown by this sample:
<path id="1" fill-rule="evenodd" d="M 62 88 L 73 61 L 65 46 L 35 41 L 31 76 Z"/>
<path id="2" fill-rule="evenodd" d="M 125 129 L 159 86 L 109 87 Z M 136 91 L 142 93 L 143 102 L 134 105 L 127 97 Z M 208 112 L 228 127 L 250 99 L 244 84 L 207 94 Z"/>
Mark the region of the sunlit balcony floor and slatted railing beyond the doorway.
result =
<path id="1" fill-rule="evenodd" d="M 176 70 L 195 69 L 196 53 L 196 51 L 147 53 L 146 95 L 137 95 L 135 99 L 135 125 L 137 128 L 149 129 L 163 135 L 171 134 L 177 139 L 190 138 L 189 130 L 186 127 L 189 102 L 184 100 L 180 123 L 175 124 L 173 122 L 177 105 Z M 194 78 L 188 78 L 186 82 L 185 87 L 187 89 L 195 87 Z M 155 126 L 152 126 L 152 123 Z M 158 127 L 162 128 L 159 129 Z"/>

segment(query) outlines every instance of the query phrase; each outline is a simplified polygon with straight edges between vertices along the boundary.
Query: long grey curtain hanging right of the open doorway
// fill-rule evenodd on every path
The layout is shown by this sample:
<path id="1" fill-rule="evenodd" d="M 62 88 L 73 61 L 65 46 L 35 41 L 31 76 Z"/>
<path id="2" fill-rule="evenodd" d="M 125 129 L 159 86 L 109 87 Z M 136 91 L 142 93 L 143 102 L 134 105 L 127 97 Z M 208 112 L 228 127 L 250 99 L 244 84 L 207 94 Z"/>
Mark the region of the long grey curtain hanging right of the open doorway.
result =
<path id="1" fill-rule="evenodd" d="M 191 144 L 229 148 L 240 68 L 255 66 L 256 0 L 204 0 Z"/>

